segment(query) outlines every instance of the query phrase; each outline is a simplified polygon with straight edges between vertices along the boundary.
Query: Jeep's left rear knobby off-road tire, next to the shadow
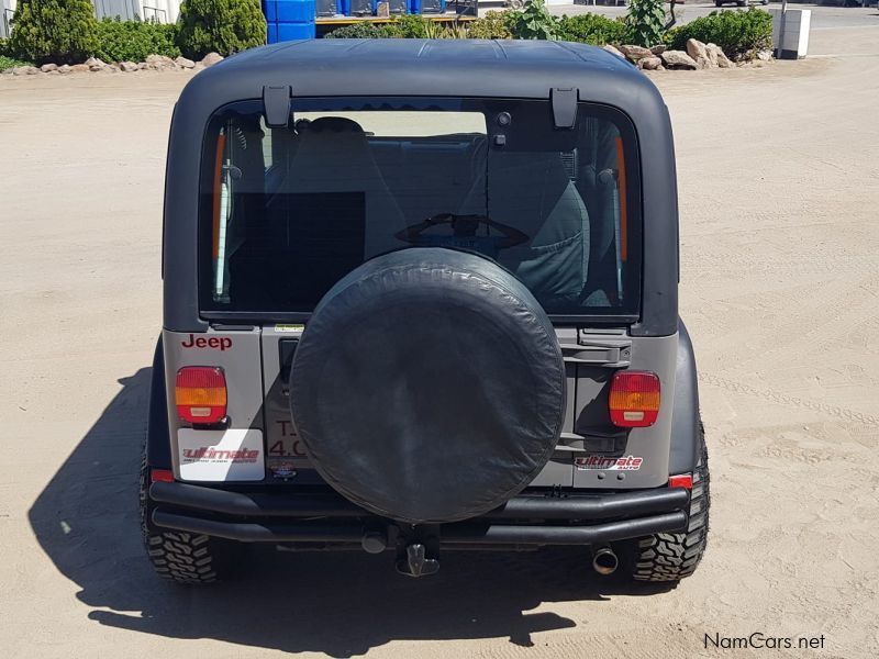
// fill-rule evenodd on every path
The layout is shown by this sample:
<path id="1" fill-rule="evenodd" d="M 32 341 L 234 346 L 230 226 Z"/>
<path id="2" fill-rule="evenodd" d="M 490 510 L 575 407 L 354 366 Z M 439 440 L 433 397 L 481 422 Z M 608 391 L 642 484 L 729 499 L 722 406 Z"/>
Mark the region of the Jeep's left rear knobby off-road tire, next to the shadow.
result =
<path id="1" fill-rule="evenodd" d="M 153 526 L 149 520 L 148 473 L 144 457 L 140 481 L 141 530 L 147 557 L 156 573 L 187 585 L 215 583 L 229 577 L 244 552 L 244 546 L 207 535 L 159 530 Z"/>

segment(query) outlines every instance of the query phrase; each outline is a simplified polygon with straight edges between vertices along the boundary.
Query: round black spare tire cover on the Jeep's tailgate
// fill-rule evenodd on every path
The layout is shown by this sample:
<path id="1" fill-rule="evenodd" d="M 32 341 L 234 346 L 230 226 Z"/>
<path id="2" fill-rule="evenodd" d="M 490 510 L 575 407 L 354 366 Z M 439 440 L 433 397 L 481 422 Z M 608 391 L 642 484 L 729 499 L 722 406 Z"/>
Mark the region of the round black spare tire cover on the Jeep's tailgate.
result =
<path id="1" fill-rule="evenodd" d="M 539 303 L 476 254 L 376 257 L 321 300 L 296 350 L 293 422 L 315 469 L 412 524 L 503 504 L 546 465 L 565 367 Z"/>

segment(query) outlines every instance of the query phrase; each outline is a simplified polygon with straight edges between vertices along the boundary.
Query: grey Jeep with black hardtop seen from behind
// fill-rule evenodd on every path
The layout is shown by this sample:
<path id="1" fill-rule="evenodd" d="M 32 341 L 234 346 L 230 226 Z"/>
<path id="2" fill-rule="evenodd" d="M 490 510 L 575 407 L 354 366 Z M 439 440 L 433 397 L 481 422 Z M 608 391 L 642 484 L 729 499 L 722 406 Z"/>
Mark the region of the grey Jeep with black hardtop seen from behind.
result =
<path id="1" fill-rule="evenodd" d="M 569 43 L 310 41 L 196 76 L 168 146 L 141 479 L 156 571 L 253 543 L 581 546 L 678 581 L 709 473 L 668 111 Z"/>

